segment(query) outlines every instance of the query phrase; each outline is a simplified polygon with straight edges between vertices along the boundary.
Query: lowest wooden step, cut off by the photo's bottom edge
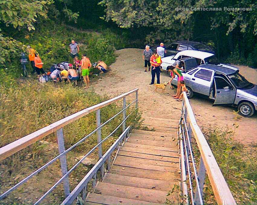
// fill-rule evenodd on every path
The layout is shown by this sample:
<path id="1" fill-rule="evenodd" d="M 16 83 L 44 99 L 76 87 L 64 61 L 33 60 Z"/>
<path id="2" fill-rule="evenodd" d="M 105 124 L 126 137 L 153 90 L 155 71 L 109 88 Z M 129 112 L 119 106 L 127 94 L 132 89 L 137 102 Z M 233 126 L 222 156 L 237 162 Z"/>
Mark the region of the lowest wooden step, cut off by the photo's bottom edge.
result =
<path id="1" fill-rule="evenodd" d="M 146 201 L 139 201 L 134 199 L 126 199 L 122 197 L 114 197 L 104 194 L 88 193 L 86 197 L 86 204 L 96 205 L 160 205 L 159 203 L 149 203 Z"/>

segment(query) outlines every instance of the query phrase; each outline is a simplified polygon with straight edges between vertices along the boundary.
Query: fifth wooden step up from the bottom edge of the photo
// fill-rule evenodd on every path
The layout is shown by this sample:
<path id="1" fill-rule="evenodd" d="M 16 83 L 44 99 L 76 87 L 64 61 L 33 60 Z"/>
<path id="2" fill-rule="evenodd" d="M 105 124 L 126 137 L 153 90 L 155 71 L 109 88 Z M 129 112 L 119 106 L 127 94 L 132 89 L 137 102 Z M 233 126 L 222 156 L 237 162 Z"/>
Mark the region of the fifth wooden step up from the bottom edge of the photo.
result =
<path id="1" fill-rule="evenodd" d="M 139 159 L 127 156 L 117 156 L 114 165 L 127 166 L 142 169 L 161 170 L 168 172 L 175 172 L 179 166 L 175 162 L 162 162 L 151 159 Z"/>

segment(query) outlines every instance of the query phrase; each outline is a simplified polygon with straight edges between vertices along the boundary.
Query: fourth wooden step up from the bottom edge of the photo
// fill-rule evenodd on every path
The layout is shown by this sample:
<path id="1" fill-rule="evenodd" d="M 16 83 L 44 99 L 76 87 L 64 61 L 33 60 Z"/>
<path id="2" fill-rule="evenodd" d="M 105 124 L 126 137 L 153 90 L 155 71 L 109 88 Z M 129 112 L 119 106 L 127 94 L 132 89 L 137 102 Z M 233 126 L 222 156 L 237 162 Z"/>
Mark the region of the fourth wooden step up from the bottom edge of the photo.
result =
<path id="1" fill-rule="evenodd" d="M 158 180 L 166 180 L 166 181 L 177 181 L 180 177 L 178 172 L 165 172 L 160 170 L 149 170 L 142 168 L 131 168 L 124 166 L 115 166 L 113 165 L 111 168 L 112 174 L 118 174 L 123 176 L 132 176 L 132 177 L 141 177 L 148 179 L 158 179 Z"/>

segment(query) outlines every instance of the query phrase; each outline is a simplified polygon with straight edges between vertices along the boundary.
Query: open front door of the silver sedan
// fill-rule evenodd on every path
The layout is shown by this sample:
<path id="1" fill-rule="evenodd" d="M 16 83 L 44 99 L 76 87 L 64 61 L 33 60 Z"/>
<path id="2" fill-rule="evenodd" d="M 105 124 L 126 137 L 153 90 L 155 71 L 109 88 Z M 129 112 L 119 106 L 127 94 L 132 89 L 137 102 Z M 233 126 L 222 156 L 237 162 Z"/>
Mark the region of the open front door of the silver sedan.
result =
<path id="1" fill-rule="evenodd" d="M 236 98 L 236 89 L 224 78 L 214 76 L 215 101 L 213 105 L 233 104 Z"/>

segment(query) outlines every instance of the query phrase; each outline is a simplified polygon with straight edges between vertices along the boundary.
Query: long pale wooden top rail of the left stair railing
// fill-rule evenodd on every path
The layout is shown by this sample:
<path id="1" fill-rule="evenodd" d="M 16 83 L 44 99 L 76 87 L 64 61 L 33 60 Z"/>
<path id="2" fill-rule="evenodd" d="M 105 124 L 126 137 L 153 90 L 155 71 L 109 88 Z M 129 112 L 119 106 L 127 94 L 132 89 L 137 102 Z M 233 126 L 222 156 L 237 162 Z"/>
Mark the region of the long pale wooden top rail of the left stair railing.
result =
<path id="1" fill-rule="evenodd" d="M 117 102 L 118 100 L 122 99 L 123 97 L 128 96 L 129 94 L 134 93 L 136 91 L 138 91 L 138 88 L 131 90 L 127 93 L 123 93 L 112 99 L 106 100 L 102 103 L 91 106 L 89 108 L 83 109 L 79 112 L 76 112 L 76 113 L 66 117 L 66 118 L 58 120 L 44 128 L 41 128 L 31 134 L 28 134 L 25 137 L 22 137 L 8 145 L 5 145 L 4 147 L 1 147 L 0 148 L 0 160 L 5 159 L 8 156 L 11 156 L 12 154 L 18 152 L 19 150 L 24 149 L 25 147 L 28 147 L 29 145 L 31 145 L 34 142 L 36 142 L 37 140 L 40 140 L 41 138 L 47 136 L 48 134 L 51 134 L 51 133 L 57 131 L 58 129 L 63 128 L 65 125 L 68 125 L 71 122 L 73 122 L 85 115 L 88 115 L 89 113 L 91 113 L 93 111 L 96 111 L 107 105 L 110 105 L 111 103 Z"/>

